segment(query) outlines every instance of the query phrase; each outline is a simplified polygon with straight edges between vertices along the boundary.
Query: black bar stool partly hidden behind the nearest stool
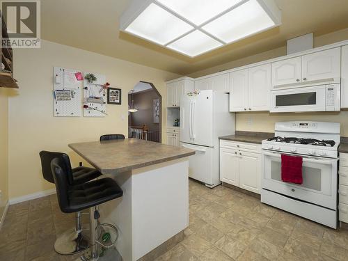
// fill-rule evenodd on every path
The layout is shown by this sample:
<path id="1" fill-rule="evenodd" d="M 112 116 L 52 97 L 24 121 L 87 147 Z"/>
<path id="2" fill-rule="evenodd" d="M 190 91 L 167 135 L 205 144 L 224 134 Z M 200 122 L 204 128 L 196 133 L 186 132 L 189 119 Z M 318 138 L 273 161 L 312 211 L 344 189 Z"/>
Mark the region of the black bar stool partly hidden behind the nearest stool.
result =
<path id="1" fill-rule="evenodd" d="M 64 153 L 61 152 L 49 152 L 42 151 L 39 153 L 41 159 L 42 175 L 48 182 L 54 183 L 54 176 L 51 169 L 51 161 L 55 158 L 62 158 Z M 68 155 L 67 155 L 68 157 Z M 69 159 L 69 158 L 68 158 Z M 70 160 L 67 162 L 67 171 L 70 173 L 69 182 L 70 184 L 83 184 L 94 180 L 95 178 L 102 175 L 95 168 L 88 168 L 84 166 L 79 166 L 77 168 L 71 168 Z M 75 213 L 75 228 L 64 232 L 61 236 L 56 239 L 54 244 L 54 249 L 57 253 L 61 255 L 72 255 L 83 251 L 88 248 L 88 241 L 84 238 L 82 234 L 81 225 L 81 212 Z"/>

